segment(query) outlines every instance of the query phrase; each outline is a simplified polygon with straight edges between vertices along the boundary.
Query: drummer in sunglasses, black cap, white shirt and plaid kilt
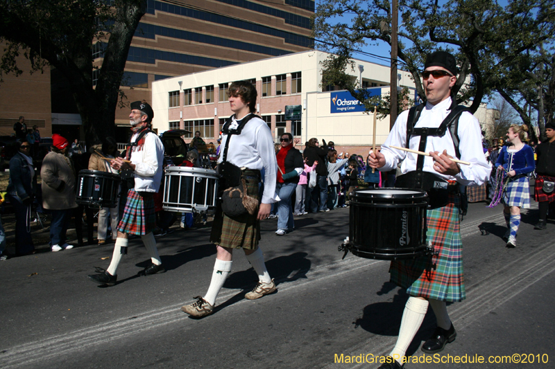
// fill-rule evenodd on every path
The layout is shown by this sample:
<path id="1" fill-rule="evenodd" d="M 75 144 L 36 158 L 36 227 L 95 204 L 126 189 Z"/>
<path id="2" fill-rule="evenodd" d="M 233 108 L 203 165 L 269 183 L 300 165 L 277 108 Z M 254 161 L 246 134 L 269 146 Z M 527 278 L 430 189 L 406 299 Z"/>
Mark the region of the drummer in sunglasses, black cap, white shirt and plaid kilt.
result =
<path id="1" fill-rule="evenodd" d="M 398 177 L 397 183 L 411 183 L 411 188 L 424 189 L 425 180 L 432 178 L 430 181 L 434 187 L 435 183 L 439 183 L 445 190 L 441 201 L 438 201 L 441 205 L 427 211 L 427 242 L 432 242 L 438 254 L 391 262 L 391 282 L 407 289 L 410 297 L 404 308 L 395 348 L 388 361 L 379 368 L 402 368 L 404 355 L 422 324 L 428 305 L 434 310 L 438 327 L 422 345 L 422 351 L 429 354 L 440 352 L 456 337 L 446 303 L 466 298 L 459 233 L 458 183 L 479 186 L 488 179 L 490 172 L 481 147 L 478 120 L 470 112 L 457 108 L 455 96 L 452 96 L 457 73 L 456 60 L 450 53 L 436 51 L 427 55 L 422 72 L 425 106 L 402 112 L 381 152 L 370 153 L 368 160 L 370 167 L 382 172 L 396 168 L 398 161 L 403 160 L 403 175 Z M 462 111 L 458 126 L 455 125 L 458 128 L 458 145 L 454 143 L 446 123 L 454 122 L 450 116 L 452 111 Z M 448 116 L 450 119 L 446 119 Z M 444 121 L 445 124 L 442 124 Z M 407 153 L 392 146 L 429 152 L 430 156 Z M 470 165 L 458 165 L 452 161 L 457 152 L 460 159 L 469 161 Z M 403 181 L 405 175 L 411 181 Z M 419 183 L 422 184 L 418 186 Z M 432 193 L 431 190 L 427 192 L 429 195 Z"/>

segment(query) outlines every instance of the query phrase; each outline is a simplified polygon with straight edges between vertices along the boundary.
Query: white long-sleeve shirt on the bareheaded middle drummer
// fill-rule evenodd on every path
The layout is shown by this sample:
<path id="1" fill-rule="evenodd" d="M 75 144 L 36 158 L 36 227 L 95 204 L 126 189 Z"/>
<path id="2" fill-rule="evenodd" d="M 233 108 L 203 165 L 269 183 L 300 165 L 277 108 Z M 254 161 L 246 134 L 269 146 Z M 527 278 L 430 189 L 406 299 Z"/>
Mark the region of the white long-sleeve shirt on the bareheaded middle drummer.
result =
<path id="1" fill-rule="evenodd" d="M 238 126 L 239 124 L 233 116 L 230 129 L 236 129 Z M 222 148 L 218 163 L 223 160 L 223 150 L 228 137 L 230 137 L 228 134 L 222 133 Z M 262 204 L 272 204 L 280 201 L 280 197 L 275 193 L 278 161 L 275 159 L 272 134 L 266 122 L 260 118 L 251 118 L 243 127 L 241 134 L 233 134 L 231 137 L 227 161 L 239 168 L 254 170 L 264 168 Z"/>

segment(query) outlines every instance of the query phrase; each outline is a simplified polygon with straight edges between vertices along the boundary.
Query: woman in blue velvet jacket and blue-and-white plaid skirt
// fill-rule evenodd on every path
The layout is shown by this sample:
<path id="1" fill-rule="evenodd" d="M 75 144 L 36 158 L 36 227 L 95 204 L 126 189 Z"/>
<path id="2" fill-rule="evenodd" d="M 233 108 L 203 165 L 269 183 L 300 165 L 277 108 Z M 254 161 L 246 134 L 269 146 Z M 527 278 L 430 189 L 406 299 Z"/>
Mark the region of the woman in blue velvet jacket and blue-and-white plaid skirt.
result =
<path id="1" fill-rule="evenodd" d="M 527 131 L 526 125 L 511 125 L 506 135 L 509 145 L 502 148 L 495 163 L 497 168 L 502 168 L 509 177 L 502 199 L 505 206 L 503 215 L 508 228 L 504 236 L 508 239 L 507 247 L 516 246 L 520 208 L 530 207 L 528 174 L 533 172 L 535 164 L 532 148 L 522 142 L 524 132 Z"/>

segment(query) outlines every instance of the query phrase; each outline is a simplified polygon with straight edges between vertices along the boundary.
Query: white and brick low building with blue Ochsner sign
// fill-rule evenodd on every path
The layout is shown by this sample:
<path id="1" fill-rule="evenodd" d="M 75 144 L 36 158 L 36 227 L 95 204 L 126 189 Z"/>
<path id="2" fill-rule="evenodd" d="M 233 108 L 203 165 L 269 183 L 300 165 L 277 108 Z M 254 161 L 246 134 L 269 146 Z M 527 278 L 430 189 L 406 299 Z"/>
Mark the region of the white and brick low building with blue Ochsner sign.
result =
<path id="1" fill-rule="evenodd" d="M 274 138 L 291 132 L 304 147 L 311 137 L 334 141 L 338 150 L 363 154 L 373 140 L 373 114 L 366 114 L 348 91 L 322 91 L 321 62 L 329 54 L 305 51 L 256 62 L 225 66 L 167 78 L 153 83 L 153 127 L 199 130 L 206 142 L 216 142 L 225 119 L 232 115 L 225 94 L 230 81 L 250 80 L 258 91 L 257 114 L 270 127 Z M 388 93 L 389 67 L 356 61 L 364 71 L 352 72 L 376 94 Z M 399 72 L 398 84 L 414 88 L 409 73 Z M 382 88 L 380 88 L 382 87 Z M 332 88 L 325 88 L 332 89 Z M 300 120 L 286 120 L 285 107 L 298 105 Z M 377 121 L 377 145 L 389 132 L 389 118 Z M 186 137 L 190 141 L 191 135 Z"/>

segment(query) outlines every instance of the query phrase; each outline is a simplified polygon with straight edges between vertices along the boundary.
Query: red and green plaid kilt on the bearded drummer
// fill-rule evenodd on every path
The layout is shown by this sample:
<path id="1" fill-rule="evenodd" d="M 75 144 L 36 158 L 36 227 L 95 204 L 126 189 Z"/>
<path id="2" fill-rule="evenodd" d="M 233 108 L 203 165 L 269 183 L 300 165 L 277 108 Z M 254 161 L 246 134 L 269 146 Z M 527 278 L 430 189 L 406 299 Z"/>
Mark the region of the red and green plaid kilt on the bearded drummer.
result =
<path id="1" fill-rule="evenodd" d="M 121 233 L 144 236 L 156 228 L 152 192 L 137 192 L 131 188 L 127 193 L 126 208 L 117 226 Z"/>

